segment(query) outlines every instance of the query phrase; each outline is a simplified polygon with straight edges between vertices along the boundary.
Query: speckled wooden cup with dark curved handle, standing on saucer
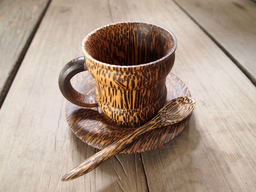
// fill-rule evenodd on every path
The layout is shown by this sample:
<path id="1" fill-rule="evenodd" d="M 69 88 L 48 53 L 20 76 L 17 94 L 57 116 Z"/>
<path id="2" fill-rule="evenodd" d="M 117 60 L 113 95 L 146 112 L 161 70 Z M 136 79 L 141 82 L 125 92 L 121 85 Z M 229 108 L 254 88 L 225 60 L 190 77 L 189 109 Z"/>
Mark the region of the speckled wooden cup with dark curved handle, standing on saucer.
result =
<path id="1" fill-rule="evenodd" d="M 61 70 L 60 91 L 78 106 L 99 106 L 119 124 L 141 125 L 165 103 L 165 80 L 176 46 L 171 31 L 151 23 L 120 22 L 98 28 L 83 40 L 84 57 Z M 96 95 L 84 95 L 70 84 L 74 75 L 85 70 L 96 81 Z"/>

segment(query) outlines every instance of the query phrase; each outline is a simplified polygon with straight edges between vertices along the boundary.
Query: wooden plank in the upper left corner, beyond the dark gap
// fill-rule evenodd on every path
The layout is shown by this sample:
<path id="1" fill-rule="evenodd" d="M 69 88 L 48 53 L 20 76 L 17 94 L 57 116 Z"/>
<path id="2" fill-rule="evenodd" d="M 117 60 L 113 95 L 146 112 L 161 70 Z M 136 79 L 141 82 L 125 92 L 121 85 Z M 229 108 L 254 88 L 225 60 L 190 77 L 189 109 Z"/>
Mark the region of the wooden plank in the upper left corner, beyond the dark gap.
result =
<path id="1" fill-rule="evenodd" d="M 0 108 L 49 2 L 0 2 Z"/>

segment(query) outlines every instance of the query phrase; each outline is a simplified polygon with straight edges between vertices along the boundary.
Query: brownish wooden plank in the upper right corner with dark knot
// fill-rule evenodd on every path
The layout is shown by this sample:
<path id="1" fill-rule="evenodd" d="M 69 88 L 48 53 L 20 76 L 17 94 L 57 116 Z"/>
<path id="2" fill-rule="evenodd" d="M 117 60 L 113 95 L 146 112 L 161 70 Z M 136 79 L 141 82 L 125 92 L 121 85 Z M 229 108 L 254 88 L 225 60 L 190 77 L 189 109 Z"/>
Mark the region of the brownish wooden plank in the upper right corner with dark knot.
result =
<path id="1" fill-rule="evenodd" d="M 251 0 L 174 0 L 256 85 L 256 3 Z"/>

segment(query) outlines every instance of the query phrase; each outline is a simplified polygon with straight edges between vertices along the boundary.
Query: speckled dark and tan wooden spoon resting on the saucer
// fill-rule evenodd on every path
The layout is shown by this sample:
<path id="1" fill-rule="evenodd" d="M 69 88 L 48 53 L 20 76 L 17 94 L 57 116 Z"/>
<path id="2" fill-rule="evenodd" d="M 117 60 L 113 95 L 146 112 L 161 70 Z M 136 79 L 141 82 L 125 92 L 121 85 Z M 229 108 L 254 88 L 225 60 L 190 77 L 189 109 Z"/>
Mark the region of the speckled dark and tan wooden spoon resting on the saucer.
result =
<path id="1" fill-rule="evenodd" d="M 149 122 L 138 127 L 121 140 L 118 140 L 98 153 L 95 153 L 93 156 L 89 157 L 83 163 L 79 164 L 64 175 L 61 180 L 72 180 L 92 171 L 99 164 L 117 154 L 145 132 L 182 121 L 192 113 L 195 108 L 195 104 L 196 102 L 192 97 L 180 97 L 167 102 Z"/>

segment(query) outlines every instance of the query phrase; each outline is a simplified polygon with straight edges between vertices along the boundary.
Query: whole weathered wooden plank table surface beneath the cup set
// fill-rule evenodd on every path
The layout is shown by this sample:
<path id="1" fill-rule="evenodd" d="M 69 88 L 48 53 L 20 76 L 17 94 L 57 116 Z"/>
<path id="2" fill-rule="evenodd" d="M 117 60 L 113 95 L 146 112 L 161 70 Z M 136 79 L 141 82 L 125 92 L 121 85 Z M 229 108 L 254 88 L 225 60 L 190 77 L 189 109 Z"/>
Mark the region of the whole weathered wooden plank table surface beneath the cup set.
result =
<path id="1" fill-rule="evenodd" d="M 255 191 L 255 10 L 251 0 L 0 1 L 0 190 Z M 60 70 L 82 56 L 89 32 L 127 20 L 175 34 L 172 73 L 188 86 L 196 108 L 163 147 L 117 154 L 63 182 L 98 150 L 68 127 Z"/>

